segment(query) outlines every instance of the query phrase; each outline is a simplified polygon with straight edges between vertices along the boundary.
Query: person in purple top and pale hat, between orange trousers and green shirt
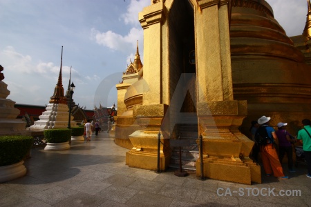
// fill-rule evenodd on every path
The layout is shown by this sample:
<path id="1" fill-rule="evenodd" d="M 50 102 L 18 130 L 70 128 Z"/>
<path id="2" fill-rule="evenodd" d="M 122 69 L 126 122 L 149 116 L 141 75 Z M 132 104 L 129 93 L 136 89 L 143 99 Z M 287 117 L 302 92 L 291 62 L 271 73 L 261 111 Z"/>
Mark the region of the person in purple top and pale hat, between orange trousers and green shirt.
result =
<path id="1" fill-rule="evenodd" d="M 279 129 L 276 131 L 276 136 L 279 139 L 279 160 L 282 164 L 283 157 L 286 153 L 286 156 L 288 156 L 288 170 L 295 172 L 292 168 L 292 144 L 295 142 L 295 139 L 290 138 L 292 135 L 285 129 L 287 125 L 287 123 L 283 122 L 277 124 Z"/>

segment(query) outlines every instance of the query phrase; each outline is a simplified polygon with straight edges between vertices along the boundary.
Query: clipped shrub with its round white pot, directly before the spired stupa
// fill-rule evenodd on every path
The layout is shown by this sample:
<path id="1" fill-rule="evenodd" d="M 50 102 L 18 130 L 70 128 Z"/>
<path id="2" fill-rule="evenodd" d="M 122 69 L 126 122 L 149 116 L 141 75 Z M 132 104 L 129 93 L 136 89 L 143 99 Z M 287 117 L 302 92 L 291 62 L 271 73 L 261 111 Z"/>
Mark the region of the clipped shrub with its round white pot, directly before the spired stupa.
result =
<path id="1" fill-rule="evenodd" d="M 68 150 L 71 130 L 68 128 L 44 130 L 46 147 L 44 150 Z"/>

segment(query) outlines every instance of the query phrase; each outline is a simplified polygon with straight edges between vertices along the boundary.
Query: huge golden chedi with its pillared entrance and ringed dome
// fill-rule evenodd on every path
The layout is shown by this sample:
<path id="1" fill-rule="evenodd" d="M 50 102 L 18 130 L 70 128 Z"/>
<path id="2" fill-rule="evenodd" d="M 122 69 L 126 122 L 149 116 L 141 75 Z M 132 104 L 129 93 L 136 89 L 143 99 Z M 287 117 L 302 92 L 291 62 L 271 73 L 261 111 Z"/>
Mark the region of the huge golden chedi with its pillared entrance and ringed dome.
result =
<path id="1" fill-rule="evenodd" d="M 294 134 L 296 124 L 310 117 L 310 68 L 270 5 L 159 0 L 151 1 L 139 20 L 144 75 L 118 92 L 126 107 L 115 139 L 131 148 L 126 164 L 156 169 L 160 132 L 160 169 L 165 170 L 171 141 L 189 141 L 185 128 L 196 126 L 191 132 L 202 135 L 203 155 L 196 159 L 198 176 L 261 183 L 260 166 L 248 157 L 254 145 L 245 136 L 250 122 L 270 116 L 272 126 L 286 121 Z"/>

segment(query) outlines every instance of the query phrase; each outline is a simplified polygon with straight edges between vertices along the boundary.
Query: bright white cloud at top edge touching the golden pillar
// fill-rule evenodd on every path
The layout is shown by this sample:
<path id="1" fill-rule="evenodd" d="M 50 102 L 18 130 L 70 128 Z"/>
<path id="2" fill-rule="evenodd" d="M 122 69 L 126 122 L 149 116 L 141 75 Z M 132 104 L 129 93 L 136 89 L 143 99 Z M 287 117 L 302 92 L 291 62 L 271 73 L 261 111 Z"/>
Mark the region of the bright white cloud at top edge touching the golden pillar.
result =
<path id="1" fill-rule="evenodd" d="M 129 7 L 127 8 L 127 12 L 121 15 L 125 24 L 132 24 L 132 25 L 140 25 L 138 21 L 138 13 L 142 11 L 142 9 L 146 6 L 150 5 L 150 1 L 147 0 L 131 0 Z"/>

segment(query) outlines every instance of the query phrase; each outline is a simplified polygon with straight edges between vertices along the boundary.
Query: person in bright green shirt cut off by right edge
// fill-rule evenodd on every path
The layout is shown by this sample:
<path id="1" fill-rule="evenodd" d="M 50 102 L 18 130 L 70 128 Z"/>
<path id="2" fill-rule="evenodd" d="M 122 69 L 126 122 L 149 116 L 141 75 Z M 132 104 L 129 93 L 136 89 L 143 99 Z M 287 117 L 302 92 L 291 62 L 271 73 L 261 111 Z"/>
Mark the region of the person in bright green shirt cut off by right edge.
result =
<path id="1" fill-rule="evenodd" d="M 307 177 L 311 178 L 311 121 L 310 119 L 302 120 L 303 129 L 299 130 L 297 139 L 303 144 L 303 154 L 308 165 Z"/>

